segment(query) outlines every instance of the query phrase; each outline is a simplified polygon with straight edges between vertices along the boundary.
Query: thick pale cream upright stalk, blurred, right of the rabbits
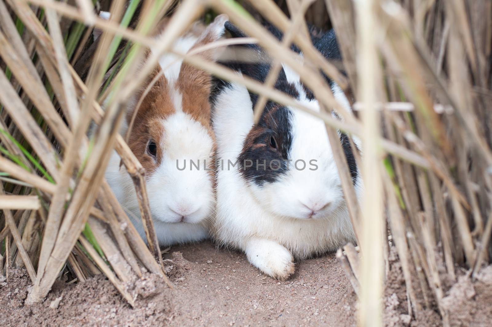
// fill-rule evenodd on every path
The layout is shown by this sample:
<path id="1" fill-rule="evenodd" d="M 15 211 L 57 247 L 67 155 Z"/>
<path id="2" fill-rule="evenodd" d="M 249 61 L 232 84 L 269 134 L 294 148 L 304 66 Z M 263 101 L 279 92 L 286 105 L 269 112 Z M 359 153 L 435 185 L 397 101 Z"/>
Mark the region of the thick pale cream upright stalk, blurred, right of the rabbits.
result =
<path id="1" fill-rule="evenodd" d="M 382 325 L 382 303 L 384 259 L 382 244 L 385 236 L 382 234 L 382 186 L 379 153 L 379 115 L 374 110 L 376 102 L 378 78 L 380 76 L 376 51 L 377 0 L 358 3 L 357 17 L 357 67 L 359 71 L 360 99 L 367 108 L 362 112 L 363 117 L 363 147 L 364 161 L 362 176 L 365 193 L 363 196 L 361 250 L 363 254 L 361 273 L 361 297 L 358 321 L 361 326 Z M 370 258 L 370 260 L 369 260 Z"/>

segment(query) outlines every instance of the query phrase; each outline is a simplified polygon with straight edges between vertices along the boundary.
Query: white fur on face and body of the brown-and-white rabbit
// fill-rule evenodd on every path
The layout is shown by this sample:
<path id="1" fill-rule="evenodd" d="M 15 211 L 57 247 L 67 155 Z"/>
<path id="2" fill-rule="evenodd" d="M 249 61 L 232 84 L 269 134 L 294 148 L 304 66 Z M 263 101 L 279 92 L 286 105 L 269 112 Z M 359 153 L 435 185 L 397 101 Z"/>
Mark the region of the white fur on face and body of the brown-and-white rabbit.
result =
<path id="1" fill-rule="evenodd" d="M 161 164 L 147 177 L 147 193 L 159 244 L 198 241 L 208 235 L 207 218 L 215 207 L 212 177 L 203 169 L 211 162 L 213 141 L 207 131 L 189 115 L 177 112 L 162 120 L 165 134 L 159 146 Z M 186 160 L 186 169 L 180 171 Z M 189 170 L 189 160 L 200 162 L 200 169 Z M 105 177 L 142 238 L 145 231 L 133 182 L 120 157 L 111 156 Z M 182 217 L 184 221 L 181 222 Z"/>

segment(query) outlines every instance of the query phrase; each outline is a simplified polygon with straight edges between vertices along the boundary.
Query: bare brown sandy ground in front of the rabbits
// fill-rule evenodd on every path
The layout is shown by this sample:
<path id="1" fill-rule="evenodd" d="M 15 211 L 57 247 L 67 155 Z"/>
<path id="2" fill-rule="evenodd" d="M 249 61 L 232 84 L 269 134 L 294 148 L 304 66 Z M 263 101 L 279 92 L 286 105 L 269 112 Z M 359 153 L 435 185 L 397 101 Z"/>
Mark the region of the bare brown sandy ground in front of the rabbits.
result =
<path id="1" fill-rule="evenodd" d="M 104 277 L 55 283 L 43 303 L 25 305 L 30 280 L 24 269 L 0 276 L 0 327 L 4 326 L 355 326 L 356 295 L 334 254 L 296 264 L 284 282 L 261 274 L 244 254 L 210 242 L 173 247 L 167 288 L 146 274 L 129 286 L 131 308 Z M 406 315 L 404 280 L 390 264 L 384 296 L 385 326 L 442 326 L 439 314 Z M 476 281 L 461 274 L 443 299 L 451 326 L 490 326 L 492 266 Z"/>

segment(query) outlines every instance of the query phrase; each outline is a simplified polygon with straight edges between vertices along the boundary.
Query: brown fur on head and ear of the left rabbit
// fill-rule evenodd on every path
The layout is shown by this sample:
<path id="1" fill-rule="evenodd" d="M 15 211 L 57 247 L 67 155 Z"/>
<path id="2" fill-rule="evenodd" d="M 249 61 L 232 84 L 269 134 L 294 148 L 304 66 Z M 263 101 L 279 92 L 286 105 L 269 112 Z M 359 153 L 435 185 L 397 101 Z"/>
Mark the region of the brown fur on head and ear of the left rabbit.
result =
<path id="1" fill-rule="evenodd" d="M 227 16 L 219 15 L 215 19 L 214 23 L 212 23 L 207 29 L 199 23 L 194 24 L 184 33 L 195 36 L 202 35 L 199 37 L 192 49 L 196 49 L 197 47 L 215 41 L 219 37 L 219 35 L 216 35 L 217 24 L 222 24 L 223 26 L 226 20 Z M 154 30 L 154 35 L 162 33 L 168 22 L 168 19 L 162 20 Z M 149 55 L 150 51 L 147 53 L 147 58 Z M 200 53 L 200 56 L 203 56 L 208 60 L 215 60 L 215 55 L 215 49 Z M 177 109 L 174 108 L 170 94 L 171 92 L 176 91 L 170 90 L 170 86 L 168 85 L 164 75 L 159 76 L 158 78 L 156 77 L 160 73 L 161 68 L 157 65 L 149 77 L 148 82 L 143 86 L 137 95 L 137 101 L 141 97 L 144 98 L 139 108 L 137 108 L 138 111 L 133 124 L 133 130 L 131 131 L 128 139 L 130 149 L 149 173 L 152 173 L 159 164 L 162 151 L 162 149 L 159 149 L 159 146 L 157 146 L 157 154 L 155 158 L 148 154 L 147 144 L 149 139 L 153 139 L 157 145 L 160 144 L 160 138 L 162 137 L 164 131 L 159 120 L 166 119 Z M 156 78 L 156 82 L 150 87 L 148 94 L 145 95 L 144 93 L 146 92 L 146 88 L 149 87 L 149 83 L 153 81 L 154 77 Z M 192 119 L 199 122 L 214 140 L 213 153 L 215 153 L 215 135 L 211 126 L 211 107 L 209 103 L 211 89 L 210 74 L 192 65 L 183 63 L 181 65 L 181 70 L 175 87 L 182 95 L 182 106 L 184 113 L 189 114 Z M 133 110 L 130 110 L 127 113 L 127 122 L 131 121 L 132 115 Z M 212 158 L 210 160 L 212 161 Z M 210 173 L 214 178 L 214 172 L 211 171 Z"/>

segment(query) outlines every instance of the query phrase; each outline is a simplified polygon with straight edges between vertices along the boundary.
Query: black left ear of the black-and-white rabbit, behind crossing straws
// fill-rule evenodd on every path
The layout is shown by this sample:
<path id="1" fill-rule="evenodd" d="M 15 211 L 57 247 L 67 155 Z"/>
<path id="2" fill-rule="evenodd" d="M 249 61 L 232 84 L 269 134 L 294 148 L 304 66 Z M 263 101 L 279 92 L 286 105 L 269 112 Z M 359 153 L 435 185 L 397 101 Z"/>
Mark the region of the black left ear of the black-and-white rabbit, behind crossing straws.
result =
<path id="1" fill-rule="evenodd" d="M 231 33 L 232 37 L 247 37 L 246 33 L 241 31 L 231 22 L 225 23 L 225 28 Z M 271 59 L 265 51 L 260 46 L 253 43 L 236 45 L 231 48 L 236 49 L 236 61 L 231 65 L 232 68 L 240 70 L 243 75 L 257 80 L 260 83 L 265 83 L 271 69 Z M 287 77 L 282 68 L 278 73 L 275 86 L 282 91 L 283 87 L 281 85 L 285 83 L 287 83 Z M 254 107 L 258 100 L 258 95 L 249 92 L 249 98 L 251 98 Z"/>

